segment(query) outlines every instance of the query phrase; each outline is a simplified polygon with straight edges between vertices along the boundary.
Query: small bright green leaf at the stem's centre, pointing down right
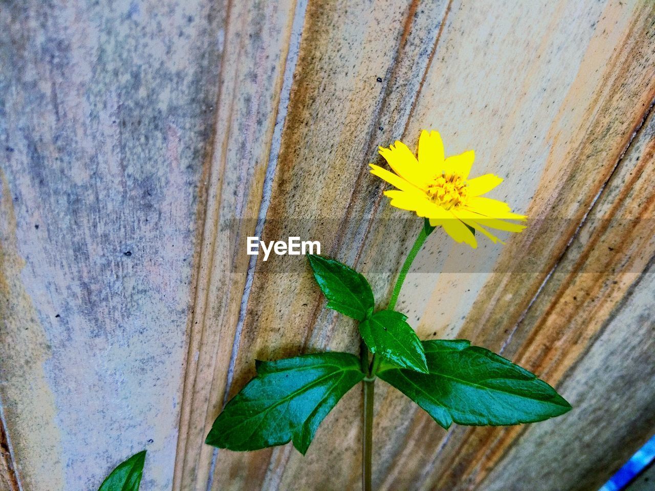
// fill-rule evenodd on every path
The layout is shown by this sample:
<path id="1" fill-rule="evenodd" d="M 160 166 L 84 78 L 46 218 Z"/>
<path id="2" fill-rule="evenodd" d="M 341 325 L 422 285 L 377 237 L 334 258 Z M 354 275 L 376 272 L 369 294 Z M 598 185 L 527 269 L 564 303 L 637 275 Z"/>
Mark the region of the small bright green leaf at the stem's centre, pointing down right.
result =
<path id="1" fill-rule="evenodd" d="M 360 334 L 373 353 L 399 367 L 428 373 L 423 345 L 407 316 L 394 310 L 380 310 L 360 323 Z"/>

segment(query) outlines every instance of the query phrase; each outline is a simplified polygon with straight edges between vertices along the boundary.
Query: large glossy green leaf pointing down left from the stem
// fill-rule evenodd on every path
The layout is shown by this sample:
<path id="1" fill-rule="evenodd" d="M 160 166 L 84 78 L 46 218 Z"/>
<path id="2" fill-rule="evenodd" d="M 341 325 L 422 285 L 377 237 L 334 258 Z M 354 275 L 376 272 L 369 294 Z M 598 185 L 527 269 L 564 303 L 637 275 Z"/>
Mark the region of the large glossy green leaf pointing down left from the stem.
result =
<path id="1" fill-rule="evenodd" d="M 205 443 L 257 450 L 293 440 L 304 455 L 323 418 L 362 378 L 359 358 L 348 353 L 259 361 L 257 376 L 227 403 Z"/>

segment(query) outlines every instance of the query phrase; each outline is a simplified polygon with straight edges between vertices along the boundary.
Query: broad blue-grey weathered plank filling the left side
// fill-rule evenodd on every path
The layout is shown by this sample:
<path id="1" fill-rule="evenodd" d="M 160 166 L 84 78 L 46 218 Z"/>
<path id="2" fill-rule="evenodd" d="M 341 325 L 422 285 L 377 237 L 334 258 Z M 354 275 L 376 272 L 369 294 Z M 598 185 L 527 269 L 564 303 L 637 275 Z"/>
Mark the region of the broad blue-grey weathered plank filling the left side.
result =
<path id="1" fill-rule="evenodd" d="M 2 2 L 0 397 L 22 490 L 169 489 L 221 7 Z"/>

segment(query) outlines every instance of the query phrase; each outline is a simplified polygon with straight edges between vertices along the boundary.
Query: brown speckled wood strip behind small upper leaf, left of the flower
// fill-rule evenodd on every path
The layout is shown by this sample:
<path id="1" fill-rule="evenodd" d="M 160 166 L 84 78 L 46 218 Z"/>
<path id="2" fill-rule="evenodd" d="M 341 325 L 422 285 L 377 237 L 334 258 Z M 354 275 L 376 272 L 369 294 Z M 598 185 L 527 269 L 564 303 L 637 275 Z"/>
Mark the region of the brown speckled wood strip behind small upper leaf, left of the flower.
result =
<path id="1" fill-rule="evenodd" d="M 431 45 L 440 24 L 434 16 L 417 15 L 416 8 L 406 1 L 382 5 L 314 2 L 308 6 L 264 238 L 300 235 L 320 240 L 325 251 L 335 242 L 337 228 L 333 224 L 339 222 L 328 217 L 333 215 L 340 221 L 347 211 L 357 175 L 362 171 L 365 175 L 365 164 L 376 152 L 371 137 L 377 138 L 384 131 L 379 129 L 384 127 L 384 120 L 394 119 L 388 113 L 403 111 L 406 117 L 428 63 L 430 50 L 425 46 Z M 443 1 L 425 6 L 435 15 L 443 14 L 446 8 Z M 405 86 L 405 92 L 396 92 L 400 85 Z M 398 126 L 402 128 L 402 120 L 395 123 Z M 386 128 L 386 132 L 390 131 L 392 128 Z M 307 192 L 295 192 L 312 181 L 315 184 Z M 377 189 L 369 186 L 369 194 L 374 196 Z M 327 220 L 318 223 L 307 220 L 308 217 Z M 317 236 L 321 229 L 324 233 Z M 243 246 L 240 253 L 244 253 Z M 327 345 L 331 329 L 323 333 L 307 329 L 323 300 L 307 275 L 305 259 L 301 261 L 301 266 L 299 261 L 291 264 L 289 274 L 281 274 L 284 268 L 271 259 L 270 273 L 266 268 L 261 270 L 269 263 L 257 263 L 248 315 L 236 340 L 240 350 L 234 363 L 233 390 L 252 375 L 254 357 L 269 359 L 293 354 L 299 348 L 305 350 L 305 344 L 313 350 Z M 352 346 L 356 342 L 352 323 L 345 319 L 337 322 L 346 327 L 339 336 L 341 344 Z M 339 327 L 334 332 L 338 333 Z M 323 339 L 306 340 L 310 335 L 322 335 Z M 357 417 L 356 393 L 342 405 L 350 405 L 349 413 Z M 325 450 L 334 465 L 350 469 L 352 462 L 340 462 L 337 452 L 332 448 Z M 315 460 L 319 454 L 313 455 L 310 458 Z M 290 448 L 251 454 L 221 450 L 214 489 L 289 486 L 281 479 L 290 459 L 296 460 Z M 305 488 L 310 486 L 309 480 L 316 479 L 305 469 L 297 468 L 294 487 Z M 335 479 L 348 479 L 348 474 L 335 475 Z"/>

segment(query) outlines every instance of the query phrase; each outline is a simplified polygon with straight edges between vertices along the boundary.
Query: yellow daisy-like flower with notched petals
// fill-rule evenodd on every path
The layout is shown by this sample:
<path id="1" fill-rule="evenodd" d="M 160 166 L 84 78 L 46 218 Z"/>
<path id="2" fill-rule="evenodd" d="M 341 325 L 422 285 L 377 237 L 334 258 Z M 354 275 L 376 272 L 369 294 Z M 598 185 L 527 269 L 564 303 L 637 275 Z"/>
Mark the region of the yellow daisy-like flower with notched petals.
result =
<path id="1" fill-rule="evenodd" d="M 421 132 L 418 160 L 401 141 L 388 149 L 379 147 L 379 152 L 395 174 L 375 164 L 370 164 L 371 173 L 398 188 L 384 192 L 391 198 L 391 206 L 429 219 L 432 227 L 443 227 L 455 241 L 477 247 L 476 237 L 468 228 L 471 227 L 493 242 L 504 244 L 483 225 L 506 232 L 521 232 L 525 228 L 504 221 L 525 221 L 524 215 L 512 213 L 502 201 L 481 196 L 502 183 L 502 178 L 485 174 L 468 179 L 474 151 L 444 158 L 438 132 Z"/>

